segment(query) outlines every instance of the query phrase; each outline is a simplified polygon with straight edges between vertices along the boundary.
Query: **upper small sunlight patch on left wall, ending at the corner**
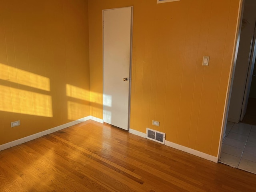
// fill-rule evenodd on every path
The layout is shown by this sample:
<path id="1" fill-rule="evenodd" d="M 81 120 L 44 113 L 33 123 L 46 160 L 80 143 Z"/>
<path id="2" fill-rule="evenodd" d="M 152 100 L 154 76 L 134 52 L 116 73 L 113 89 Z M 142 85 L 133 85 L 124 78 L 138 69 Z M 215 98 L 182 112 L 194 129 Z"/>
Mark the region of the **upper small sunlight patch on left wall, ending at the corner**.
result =
<path id="1" fill-rule="evenodd" d="M 90 101 L 90 91 L 76 87 L 70 84 L 66 84 L 66 95 L 68 97 Z"/>

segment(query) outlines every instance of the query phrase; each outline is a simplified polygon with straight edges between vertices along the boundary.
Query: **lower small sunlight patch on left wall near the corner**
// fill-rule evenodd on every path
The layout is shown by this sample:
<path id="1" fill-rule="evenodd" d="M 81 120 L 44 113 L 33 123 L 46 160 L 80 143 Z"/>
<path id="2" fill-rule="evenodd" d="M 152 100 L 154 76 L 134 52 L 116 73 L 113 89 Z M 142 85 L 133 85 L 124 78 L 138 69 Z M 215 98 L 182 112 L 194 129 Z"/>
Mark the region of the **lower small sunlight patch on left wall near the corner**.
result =
<path id="1" fill-rule="evenodd" d="M 68 120 L 77 120 L 84 117 L 88 106 L 76 102 L 68 101 Z"/>

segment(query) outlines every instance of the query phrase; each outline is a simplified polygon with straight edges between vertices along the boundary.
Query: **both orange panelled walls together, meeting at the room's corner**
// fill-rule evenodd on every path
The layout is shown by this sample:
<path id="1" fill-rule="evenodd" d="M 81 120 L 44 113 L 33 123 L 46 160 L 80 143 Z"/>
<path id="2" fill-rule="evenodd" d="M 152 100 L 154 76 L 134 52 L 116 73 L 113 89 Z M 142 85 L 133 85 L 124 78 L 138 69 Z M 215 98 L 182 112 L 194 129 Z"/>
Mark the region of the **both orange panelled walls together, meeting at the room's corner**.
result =
<path id="1" fill-rule="evenodd" d="M 239 0 L 12 1 L 0 7 L 0 144 L 103 118 L 102 10 L 134 6 L 130 127 L 217 156 Z"/>

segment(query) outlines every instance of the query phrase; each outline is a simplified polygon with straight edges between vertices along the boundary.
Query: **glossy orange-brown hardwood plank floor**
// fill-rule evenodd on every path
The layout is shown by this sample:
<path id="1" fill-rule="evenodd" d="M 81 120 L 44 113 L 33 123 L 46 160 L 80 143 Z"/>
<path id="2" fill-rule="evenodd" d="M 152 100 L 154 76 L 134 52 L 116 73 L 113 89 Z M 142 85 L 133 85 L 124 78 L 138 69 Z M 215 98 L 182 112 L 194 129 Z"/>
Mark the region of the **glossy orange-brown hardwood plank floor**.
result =
<path id="1" fill-rule="evenodd" d="M 92 120 L 0 151 L 1 192 L 255 192 L 256 175 Z"/>

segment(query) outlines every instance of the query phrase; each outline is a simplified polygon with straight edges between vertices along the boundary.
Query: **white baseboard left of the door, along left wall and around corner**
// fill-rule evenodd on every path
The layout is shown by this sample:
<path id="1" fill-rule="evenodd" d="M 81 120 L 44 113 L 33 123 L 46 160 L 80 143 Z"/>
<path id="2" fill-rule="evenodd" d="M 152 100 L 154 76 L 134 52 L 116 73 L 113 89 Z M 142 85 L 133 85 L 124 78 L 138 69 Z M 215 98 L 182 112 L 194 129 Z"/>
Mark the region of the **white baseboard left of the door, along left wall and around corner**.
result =
<path id="1" fill-rule="evenodd" d="M 50 134 L 50 133 L 62 130 L 64 128 L 68 128 L 70 126 L 76 125 L 78 123 L 81 123 L 81 122 L 84 122 L 84 121 L 87 121 L 87 120 L 90 120 L 90 119 L 94 120 L 94 121 L 97 121 L 97 122 L 102 122 L 103 123 L 103 120 L 101 120 L 99 118 L 92 117 L 92 116 L 87 116 L 87 117 L 84 117 L 84 118 L 81 118 L 81 119 L 78 119 L 78 120 L 75 120 L 75 121 L 72 121 L 72 122 L 69 122 L 69 123 L 66 123 L 66 124 L 63 124 L 63 125 L 51 128 L 51 129 L 48 129 L 48 130 L 45 130 L 45 131 L 42 131 L 42 132 L 30 135 L 30 136 L 27 136 L 27 137 L 15 140 L 15 141 L 12 141 L 12 142 L 9 142 L 9 143 L 2 144 L 2 145 L 0 145 L 0 151 L 5 150 L 5 149 L 10 148 L 10 147 L 13 147 L 13 146 L 16 146 L 16 145 L 19 145 L 19 144 L 22 144 L 22 143 L 25 143 L 25 142 L 28 142 L 28 141 L 31 141 L 31 140 L 34 140 L 34 139 L 42 137 L 44 135 L 47 135 L 47 134 Z"/>

